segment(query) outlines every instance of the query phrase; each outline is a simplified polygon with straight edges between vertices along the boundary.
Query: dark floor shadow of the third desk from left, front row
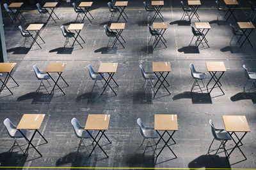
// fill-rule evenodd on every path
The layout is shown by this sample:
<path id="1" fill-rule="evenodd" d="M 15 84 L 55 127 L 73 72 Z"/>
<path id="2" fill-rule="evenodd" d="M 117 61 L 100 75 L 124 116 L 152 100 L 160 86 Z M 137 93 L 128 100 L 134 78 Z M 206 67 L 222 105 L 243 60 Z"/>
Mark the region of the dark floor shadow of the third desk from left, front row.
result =
<path id="1" fill-rule="evenodd" d="M 154 155 L 144 155 L 143 153 L 134 153 L 124 157 L 125 164 L 129 167 L 155 167 Z"/>

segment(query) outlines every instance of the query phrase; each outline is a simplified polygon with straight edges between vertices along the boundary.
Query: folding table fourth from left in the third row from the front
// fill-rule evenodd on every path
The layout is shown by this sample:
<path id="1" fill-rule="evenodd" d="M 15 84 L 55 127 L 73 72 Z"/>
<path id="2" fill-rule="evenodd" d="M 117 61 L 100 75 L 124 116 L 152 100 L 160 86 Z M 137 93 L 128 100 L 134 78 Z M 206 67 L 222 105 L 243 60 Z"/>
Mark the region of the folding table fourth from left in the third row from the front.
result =
<path id="1" fill-rule="evenodd" d="M 165 45 L 166 40 L 163 37 L 163 34 L 164 34 L 164 32 L 166 31 L 167 28 L 168 28 L 167 27 L 167 22 L 153 22 L 153 29 L 160 33 L 159 35 L 157 35 L 157 38 L 154 41 L 154 43 L 156 43 L 154 48 L 156 48 L 156 46 L 157 46 L 157 44 L 159 43 L 160 40 L 162 41 L 164 46 L 167 48 L 167 46 Z M 159 31 L 159 29 L 161 29 L 161 31 Z M 153 45 L 154 45 L 154 43 L 153 43 Z"/>

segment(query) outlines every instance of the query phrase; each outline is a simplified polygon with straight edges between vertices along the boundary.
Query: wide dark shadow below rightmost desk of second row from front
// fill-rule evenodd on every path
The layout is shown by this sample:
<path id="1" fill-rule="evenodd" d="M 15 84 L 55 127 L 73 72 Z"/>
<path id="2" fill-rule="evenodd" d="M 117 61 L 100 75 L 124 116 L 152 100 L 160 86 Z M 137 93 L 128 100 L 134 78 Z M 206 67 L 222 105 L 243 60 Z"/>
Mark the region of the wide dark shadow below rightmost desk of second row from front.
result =
<path id="1" fill-rule="evenodd" d="M 172 97 L 173 101 L 179 99 L 191 99 L 193 104 L 212 104 L 211 96 L 201 92 L 183 92 Z"/>

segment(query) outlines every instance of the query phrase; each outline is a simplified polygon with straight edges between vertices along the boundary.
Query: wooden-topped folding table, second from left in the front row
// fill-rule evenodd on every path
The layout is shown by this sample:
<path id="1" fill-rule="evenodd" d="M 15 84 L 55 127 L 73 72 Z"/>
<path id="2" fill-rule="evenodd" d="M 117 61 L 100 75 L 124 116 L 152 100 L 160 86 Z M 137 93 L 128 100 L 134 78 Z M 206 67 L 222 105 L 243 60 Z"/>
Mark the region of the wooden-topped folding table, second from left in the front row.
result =
<path id="1" fill-rule="evenodd" d="M 90 134 L 90 130 L 94 130 L 94 131 L 99 131 L 97 133 L 97 135 L 95 136 L 95 138 L 92 136 L 92 134 L 90 134 L 90 136 L 92 137 L 93 141 L 95 141 L 96 145 L 93 146 L 92 152 L 93 150 L 95 150 L 96 146 L 98 145 L 100 147 L 100 149 L 102 150 L 102 152 L 105 153 L 105 155 L 108 157 L 107 153 L 102 149 L 102 147 L 99 145 L 99 141 L 102 138 L 102 136 L 105 136 L 106 139 L 108 139 L 108 137 L 104 134 L 105 131 L 108 131 L 108 127 L 109 127 L 109 120 L 110 120 L 110 115 L 91 115 L 89 114 L 86 120 L 86 123 L 84 125 L 84 130 L 86 130 L 88 132 L 88 134 Z M 101 135 L 99 136 L 101 132 Z M 99 138 L 97 139 L 97 137 L 99 136 Z M 111 143 L 111 141 L 108 139 L 109 143 Z M 90 155 L 92 155 L 92 152 L 90 153 Z M 89 157 L 90 157 L 89 155 Z"/>

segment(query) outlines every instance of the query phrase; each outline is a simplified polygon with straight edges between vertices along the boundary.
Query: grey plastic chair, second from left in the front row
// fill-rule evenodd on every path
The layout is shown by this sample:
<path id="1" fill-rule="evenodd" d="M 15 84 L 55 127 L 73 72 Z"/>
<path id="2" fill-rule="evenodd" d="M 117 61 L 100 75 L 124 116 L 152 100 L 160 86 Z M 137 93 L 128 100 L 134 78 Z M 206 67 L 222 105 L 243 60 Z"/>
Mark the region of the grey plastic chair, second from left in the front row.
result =
<path id="1" fill-rule="evenodd" d="M 84 130 L 84 127 L 82 127 L 79 124 L 79 122 L 77 121 L 76 118 L 72 118 L 71 124 L 74 127 L 74 132 L 76 134 L 76 137 L 80 139 L 80 142 L 79 142 L 79 145 L 77 148 L 77 152 L 79 152 L 79 148 L 81 146 L 84 146 L 86 148 L 86 145 L 84 145 L 84 139 L 90 139 L 92 141 L 93 130 L 89 130 L 89 131 Z M 83 145 L 82 145 L 82 143 L 83 143 Z M 93 141 L 92 141 L 92 144 L 93 144 Z M 89 150 L 87 148 L 86 148 L 86 150 L 89 152 Z"/>

